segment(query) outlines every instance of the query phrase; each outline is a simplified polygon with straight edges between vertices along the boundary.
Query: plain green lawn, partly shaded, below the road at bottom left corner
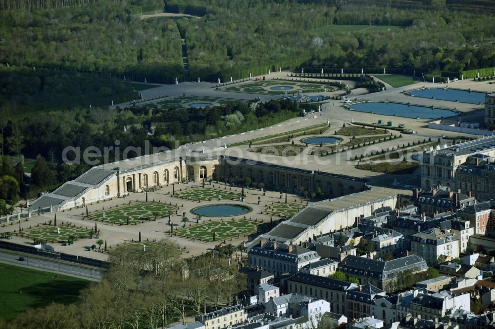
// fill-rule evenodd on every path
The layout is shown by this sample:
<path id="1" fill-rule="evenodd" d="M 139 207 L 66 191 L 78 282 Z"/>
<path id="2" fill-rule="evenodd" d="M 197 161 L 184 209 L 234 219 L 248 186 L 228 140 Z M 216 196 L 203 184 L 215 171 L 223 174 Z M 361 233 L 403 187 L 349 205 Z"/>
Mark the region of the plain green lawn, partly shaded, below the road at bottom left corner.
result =
<path id="1" fill-rule="evenodd" d="M 0 318 L 8 321 L 20 313 L 51 302 L 73 303 L 89 281 L 12 265 L 0 264 Z"/>

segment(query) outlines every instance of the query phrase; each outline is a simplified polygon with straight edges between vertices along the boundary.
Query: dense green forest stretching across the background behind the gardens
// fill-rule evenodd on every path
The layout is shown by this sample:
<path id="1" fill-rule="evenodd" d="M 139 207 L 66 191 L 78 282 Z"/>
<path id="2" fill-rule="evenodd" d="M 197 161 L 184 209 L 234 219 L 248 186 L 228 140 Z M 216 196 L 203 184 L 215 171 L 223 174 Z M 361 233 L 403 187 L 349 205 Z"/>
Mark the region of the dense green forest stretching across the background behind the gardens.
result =
<path id="1" fill-rule="evenodd" d="M 53 0 L 47 1 L 49 10 L 27 8 L 38 2 L 44 1 L 1 1 L 0 7 L 24 9 L 0 11 L 0 62 L 171 83 L 184 79 L 182 37 L 193 81 L 237 79 L 278 67 L 400 67 L 457 75 L 495 66 L 492 48 L 468 42 L 493 38 L 493 10 L 448 10 L 442 1 Z M 422 5 L 404 7 L 411 3 Z M 202 17 L 141 20 L 135 14 L 151 8 Z M 396 28 L 318 29 L 332 24 Z"/>

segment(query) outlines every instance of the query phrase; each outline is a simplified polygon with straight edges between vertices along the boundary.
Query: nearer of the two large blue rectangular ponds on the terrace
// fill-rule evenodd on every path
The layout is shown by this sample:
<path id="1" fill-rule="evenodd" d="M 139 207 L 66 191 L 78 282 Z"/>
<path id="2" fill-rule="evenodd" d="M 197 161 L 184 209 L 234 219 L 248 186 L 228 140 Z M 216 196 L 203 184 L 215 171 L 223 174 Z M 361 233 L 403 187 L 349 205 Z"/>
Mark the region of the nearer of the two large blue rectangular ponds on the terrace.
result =
<path id="1" fill-rule="evenodd" d="M 383 114 L 392 117 L 418 118 L 418 119 L 441 119 L 458 115 L 456 112 L 439 109 L 437 107 L 426 107 L 419 105 L 407 105 L 394 102 L 367 102 L 347 106 L 352 111 Z"/>

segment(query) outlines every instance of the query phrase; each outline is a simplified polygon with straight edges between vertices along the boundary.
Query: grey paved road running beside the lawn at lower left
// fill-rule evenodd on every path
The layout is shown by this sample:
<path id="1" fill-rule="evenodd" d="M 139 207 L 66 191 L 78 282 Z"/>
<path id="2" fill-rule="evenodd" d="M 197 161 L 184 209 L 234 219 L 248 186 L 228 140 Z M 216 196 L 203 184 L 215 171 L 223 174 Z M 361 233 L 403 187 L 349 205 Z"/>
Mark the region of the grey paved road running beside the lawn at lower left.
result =
<path id="1" fill-rule="evenodd" d="M 24 257 L 24 261 L 18 260 L 19 257 Z M 49 271 L 53 273 L 60 273 L 63 275 L 77 277 L 82 279 L 88 279 L 92 281 L 101 280 L 101 269 L 97 267 L 89 266 L 79 266 L 79 265 L 69 265 L 65 261 L 60 261 L 58 259 L 44 258 L 40 259 L 38 257 L 33 257 L 25 253 L 11 253 L 0 251 L 0 263 L 27 267 L 36 270 Z"/>

